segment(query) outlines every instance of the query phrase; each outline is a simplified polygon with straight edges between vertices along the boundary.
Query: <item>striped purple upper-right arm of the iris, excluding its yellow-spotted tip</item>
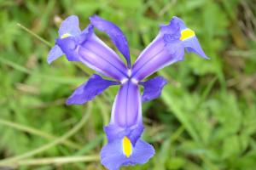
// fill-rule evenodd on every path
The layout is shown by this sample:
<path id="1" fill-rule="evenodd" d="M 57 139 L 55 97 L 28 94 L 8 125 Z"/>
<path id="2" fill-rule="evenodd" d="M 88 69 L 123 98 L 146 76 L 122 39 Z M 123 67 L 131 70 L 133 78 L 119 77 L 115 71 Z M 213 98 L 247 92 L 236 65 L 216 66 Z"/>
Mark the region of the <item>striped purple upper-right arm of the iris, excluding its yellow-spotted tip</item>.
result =
<path id="1" fill-rule="evenodd" d="M 137 81 L 150 76 L 155 71 L 183 59 L 184 48 L 180 37 L 179 25 L 171 20 L 167 26 L 160 27 L 155 37 L 132 66 L 132 77 Z"/>

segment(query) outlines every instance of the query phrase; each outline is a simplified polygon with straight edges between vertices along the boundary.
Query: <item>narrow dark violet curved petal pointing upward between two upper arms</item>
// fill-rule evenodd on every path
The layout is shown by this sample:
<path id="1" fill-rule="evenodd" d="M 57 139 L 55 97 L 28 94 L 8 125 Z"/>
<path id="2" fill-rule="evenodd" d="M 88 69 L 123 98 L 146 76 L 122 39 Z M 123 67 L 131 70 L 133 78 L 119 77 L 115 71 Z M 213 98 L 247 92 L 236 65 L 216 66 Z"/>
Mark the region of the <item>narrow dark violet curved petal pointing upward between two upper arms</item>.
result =
<path id="1" fill-rule="evenodd" d="M 127 65 L 130 68 L 131 58 L 128 42 L 124 33 L 119 29 L 119 27 L 114 25 L 112 22 L 108 20 L 103 20 L 102 18 L 96 15 L 90 17 L 90 22 L 98 30 L 104 31 L 108 34 L 108 36 L 113 41 L 114 45 L 119 49 L 121 54 L 124 55 Z"/>

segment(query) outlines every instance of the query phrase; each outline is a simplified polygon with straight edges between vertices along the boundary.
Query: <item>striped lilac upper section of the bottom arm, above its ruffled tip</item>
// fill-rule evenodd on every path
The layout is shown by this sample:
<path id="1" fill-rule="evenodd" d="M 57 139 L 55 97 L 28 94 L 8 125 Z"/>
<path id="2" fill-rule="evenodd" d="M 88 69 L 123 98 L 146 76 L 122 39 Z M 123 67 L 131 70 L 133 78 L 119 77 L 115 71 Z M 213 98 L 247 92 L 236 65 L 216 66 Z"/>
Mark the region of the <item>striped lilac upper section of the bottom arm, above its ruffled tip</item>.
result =
<path id="1" fill-rule="evenodd" d="M 119 88 L 113 103 L 110 124 L 132 127 L 142 123 L 142 104 L 138 85 L 130 80 Z"/>

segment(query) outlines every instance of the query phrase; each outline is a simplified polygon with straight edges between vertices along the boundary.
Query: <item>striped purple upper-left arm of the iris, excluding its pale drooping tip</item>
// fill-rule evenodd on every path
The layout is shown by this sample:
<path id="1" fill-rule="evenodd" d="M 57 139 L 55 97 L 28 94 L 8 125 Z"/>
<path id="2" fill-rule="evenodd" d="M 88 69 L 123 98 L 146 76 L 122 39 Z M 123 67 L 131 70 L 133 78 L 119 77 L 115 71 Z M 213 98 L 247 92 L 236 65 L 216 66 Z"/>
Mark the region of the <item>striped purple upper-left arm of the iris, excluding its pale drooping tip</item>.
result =
<path id="1" fill-rule="evenodd" d="M 56 40 L 67 59 L 81 61 L 91 69 L 116 80 L 127 77 L 127 68 L 111 48 L 92 33 L 90 25 L 80 36 Z"/>

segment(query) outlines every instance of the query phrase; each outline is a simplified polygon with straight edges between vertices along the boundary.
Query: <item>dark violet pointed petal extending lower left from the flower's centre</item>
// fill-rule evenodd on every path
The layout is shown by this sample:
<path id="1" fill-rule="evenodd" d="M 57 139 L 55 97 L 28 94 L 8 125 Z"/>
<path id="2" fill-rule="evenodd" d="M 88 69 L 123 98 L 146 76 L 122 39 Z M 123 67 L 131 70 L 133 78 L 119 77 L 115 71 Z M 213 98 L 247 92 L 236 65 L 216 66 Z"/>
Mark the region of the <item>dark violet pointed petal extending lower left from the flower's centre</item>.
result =
<path id="1" fill-rule="evenodd" d="M 119 84 L 119 82 L 105 80 L 94 74 L 87 82 L 84 82 L 73 92 L 73 94 L 67 99 L 67 105 L 82 105 L 87 101 L 94 99 L 96 95 L 102 94 L 102 92 L 109 86 L 117 84 Z"/>

